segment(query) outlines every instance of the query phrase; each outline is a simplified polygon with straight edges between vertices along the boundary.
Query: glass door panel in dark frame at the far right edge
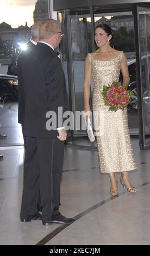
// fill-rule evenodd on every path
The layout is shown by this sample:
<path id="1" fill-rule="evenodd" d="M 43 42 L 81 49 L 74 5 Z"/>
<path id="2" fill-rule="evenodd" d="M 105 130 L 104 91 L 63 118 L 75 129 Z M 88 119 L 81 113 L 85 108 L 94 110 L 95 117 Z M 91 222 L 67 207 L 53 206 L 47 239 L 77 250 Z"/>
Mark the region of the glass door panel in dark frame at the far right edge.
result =
<path id="1" fill-rule="evenodd" d="M 150 147 L 150 8 L 137 5 L 140 148 Z M 138 55 L 138 54 L 137 54 Z"/>

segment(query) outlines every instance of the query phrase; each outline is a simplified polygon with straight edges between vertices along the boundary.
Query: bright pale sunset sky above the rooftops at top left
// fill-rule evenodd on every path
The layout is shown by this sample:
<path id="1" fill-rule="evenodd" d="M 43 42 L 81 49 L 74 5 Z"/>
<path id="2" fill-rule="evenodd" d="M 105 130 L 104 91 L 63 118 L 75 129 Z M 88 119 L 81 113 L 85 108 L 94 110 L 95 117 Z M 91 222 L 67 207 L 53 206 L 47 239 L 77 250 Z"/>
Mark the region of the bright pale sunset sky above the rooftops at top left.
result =
<path id="1" fill-rule="evenodd" d="M 3 21 L 12 28 L 33 25 L 33 11 L 37 0 L 0 0 L 0 23 Z"/>

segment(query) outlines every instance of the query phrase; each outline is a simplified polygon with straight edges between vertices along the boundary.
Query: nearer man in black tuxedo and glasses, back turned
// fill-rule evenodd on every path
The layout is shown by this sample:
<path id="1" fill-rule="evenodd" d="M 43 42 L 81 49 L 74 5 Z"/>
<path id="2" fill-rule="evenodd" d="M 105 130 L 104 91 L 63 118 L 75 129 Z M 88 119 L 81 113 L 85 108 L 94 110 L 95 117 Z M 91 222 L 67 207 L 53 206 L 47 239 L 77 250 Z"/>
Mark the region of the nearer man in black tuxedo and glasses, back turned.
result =
<path id="1" fill-rule="evenodd" d="M 67 107 L 65 76 L 54 52 L 63 35 L 60 23 L 52 19 L 43 21 L 39 35 L 35 50 L 23 52 L 17 62 L 21 94 L 18 112 L 22 112 L 26 140 L 20 216 L 22 222 L 41 219 L 36 206 L 40 191 L 43 225 L 71 223 L 74 219 L 58 211 L 67 137 L 64 127 L 58 126 L 58 109 L 61 107 L 64 112 Z M 49 111 L 56 113 L 58 129 L 47 129 Z"/>

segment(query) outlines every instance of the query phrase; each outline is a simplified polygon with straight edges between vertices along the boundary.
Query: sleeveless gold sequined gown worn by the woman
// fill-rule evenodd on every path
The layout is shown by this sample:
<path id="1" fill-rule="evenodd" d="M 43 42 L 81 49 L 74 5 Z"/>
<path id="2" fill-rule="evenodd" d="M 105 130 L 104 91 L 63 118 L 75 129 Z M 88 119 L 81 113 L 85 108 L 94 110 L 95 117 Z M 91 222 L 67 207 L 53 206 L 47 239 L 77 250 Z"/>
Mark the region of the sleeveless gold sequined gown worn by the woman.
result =
<path id="1" fill-rule="evenodd" d="M 100 133 L 97 136 L 99 167 L 102 173 L 126 172 L 136 169 L 133 149 L 130 142 L 127 109 L 108 111 L 104 105 L 102 89 L 104 84 L 118 81 L 123 52 L 112 60 L 96 60 L 89 53 L 93 92 L 93 119 Z M 94 114 L 96 113 L 96 114 Z M 96 127 L 96 125 L 95 125 Z M 97 132 L 97 130 L 96 130 Z"/>

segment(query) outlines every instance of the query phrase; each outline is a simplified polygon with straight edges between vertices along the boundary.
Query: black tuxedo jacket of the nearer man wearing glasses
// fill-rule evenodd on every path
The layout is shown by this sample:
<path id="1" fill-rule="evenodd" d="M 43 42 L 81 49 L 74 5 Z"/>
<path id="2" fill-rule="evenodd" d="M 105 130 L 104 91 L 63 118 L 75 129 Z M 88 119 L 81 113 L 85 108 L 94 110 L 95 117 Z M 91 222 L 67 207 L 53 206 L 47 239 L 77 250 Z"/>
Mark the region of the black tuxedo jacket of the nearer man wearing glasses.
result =
<path id="1" fill-rule="evenodd" d="M 67 94 L 64 71 L 57 54 L 41 42 L 22 51 L 17 61 L 19 96 L 18 123 L 23 125 L 24 136 L 55 138 L 57 130 L 47 130 L 46 113 L 53 111 L 57 117 L 58 107 L 67 110 Z"/>

